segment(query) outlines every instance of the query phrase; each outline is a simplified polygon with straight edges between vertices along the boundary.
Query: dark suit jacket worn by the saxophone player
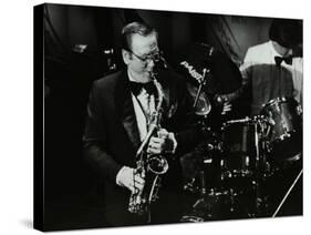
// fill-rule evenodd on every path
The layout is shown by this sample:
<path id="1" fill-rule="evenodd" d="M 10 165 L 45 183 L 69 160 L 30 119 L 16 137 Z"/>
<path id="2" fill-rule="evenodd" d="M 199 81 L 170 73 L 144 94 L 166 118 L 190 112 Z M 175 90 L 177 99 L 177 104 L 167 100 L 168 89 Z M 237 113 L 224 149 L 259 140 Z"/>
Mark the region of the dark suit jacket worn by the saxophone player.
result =
<path id="1" fill-rule="evenodd" d="M 163 71 L 158 81 L 165 94 L 162 126 L 176 133 L 177 153 L 185 152 L 199 137 L 198 127 L 191 125 L 191 100 L 175 73 Z M 83 140 L 87 162 L 104 181 L 106 219 L 115 226 L 139 224 L 139 218 L 127 213 L 129 191 L 115 182 L 122 166 L 135 167 L 141 144 L 126 71 L 94 82 Z"/>

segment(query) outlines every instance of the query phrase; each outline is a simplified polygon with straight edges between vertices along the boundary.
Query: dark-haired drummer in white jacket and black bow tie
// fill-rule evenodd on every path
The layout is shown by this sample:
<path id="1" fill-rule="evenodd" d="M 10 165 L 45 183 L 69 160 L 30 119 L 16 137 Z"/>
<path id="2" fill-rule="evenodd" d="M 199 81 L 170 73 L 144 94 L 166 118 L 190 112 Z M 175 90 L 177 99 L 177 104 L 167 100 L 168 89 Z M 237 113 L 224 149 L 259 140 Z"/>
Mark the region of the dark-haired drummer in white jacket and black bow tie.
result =
<path id="1" fill-rule="evenodd" d="M 249 93 L 250 114 L 276 98 L 294 98 L 302 105 L 302 21 L 276 19 L 269 41 L 250 47 L 240 67 Z"/>

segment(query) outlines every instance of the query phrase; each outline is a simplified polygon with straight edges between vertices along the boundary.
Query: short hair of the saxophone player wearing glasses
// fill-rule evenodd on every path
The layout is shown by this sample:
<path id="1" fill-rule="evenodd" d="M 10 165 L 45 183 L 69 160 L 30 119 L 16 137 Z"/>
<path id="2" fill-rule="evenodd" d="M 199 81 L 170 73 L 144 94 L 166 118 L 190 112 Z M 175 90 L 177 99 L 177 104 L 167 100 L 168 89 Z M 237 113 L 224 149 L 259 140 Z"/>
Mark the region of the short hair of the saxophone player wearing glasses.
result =
<path id="1" fill-rule="evenodd" d="M 132 35 L 139 34 L 139 35 L 149 35 L 155 33 L 157 37 L 157 31 L 142 22 L 132 22 L 126 24 L 122 29 L 122 49 L 132 50 Z"/>

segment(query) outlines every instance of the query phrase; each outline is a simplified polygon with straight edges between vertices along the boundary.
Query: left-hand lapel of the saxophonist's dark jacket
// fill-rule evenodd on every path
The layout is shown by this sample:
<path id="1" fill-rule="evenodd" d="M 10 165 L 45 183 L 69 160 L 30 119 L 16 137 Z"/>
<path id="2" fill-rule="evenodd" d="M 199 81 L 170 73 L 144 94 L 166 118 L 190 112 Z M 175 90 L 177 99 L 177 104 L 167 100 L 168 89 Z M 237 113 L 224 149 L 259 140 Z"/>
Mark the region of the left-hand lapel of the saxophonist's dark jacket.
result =
<path id="1" fill-rule="evenodd" d="M 129 141 L 134 149 L 137 150 L 141 140 L 126 71 L 122 72 L 118 79 L 115 92 L 116 109 Z"/>

